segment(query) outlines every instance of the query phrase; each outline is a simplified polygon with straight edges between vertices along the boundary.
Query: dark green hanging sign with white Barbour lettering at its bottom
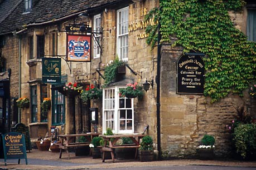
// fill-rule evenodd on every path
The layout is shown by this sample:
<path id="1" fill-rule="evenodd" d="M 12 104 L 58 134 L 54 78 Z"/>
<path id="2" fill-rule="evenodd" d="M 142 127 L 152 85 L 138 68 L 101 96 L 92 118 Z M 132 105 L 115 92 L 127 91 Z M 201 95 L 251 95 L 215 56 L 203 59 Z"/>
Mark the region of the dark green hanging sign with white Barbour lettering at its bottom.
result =
<path id="1" fill-rule="evenodd" d="M 61 83 L 61 58 L 42 58 L 42 83 Z"/>

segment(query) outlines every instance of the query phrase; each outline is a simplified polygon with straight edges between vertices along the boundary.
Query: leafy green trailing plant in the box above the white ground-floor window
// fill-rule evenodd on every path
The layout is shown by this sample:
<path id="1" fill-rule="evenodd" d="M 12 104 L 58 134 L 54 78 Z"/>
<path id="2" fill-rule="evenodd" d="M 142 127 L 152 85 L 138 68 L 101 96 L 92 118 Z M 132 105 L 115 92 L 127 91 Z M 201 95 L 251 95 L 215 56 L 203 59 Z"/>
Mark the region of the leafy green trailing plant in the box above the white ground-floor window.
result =
<path id="1" fill-rule="evenodd" d="M 119 58 L 115 58 L 104 70 L 104 86 L 108 86 L 110 83 L 117 81 L 119 76 L 118 69 L 125 66 L 123 61 Z M 122 72 L 123 73 L 123 72 Z"/>

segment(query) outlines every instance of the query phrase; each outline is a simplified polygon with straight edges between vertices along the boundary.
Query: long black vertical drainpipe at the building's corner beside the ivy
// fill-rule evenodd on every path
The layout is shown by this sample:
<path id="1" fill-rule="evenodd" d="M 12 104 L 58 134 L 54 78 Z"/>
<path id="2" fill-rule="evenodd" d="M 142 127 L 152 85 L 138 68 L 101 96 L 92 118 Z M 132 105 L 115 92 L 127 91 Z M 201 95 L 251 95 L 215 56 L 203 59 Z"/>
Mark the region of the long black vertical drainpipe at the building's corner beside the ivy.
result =
<path id="1" fill-rule="evenodd" d="M 160 20 L 158 23 L 158 37 L 157 37 L 157 77 L 156 77 L 156 84 L 157 84 L 157 151 L 158 151 L 158 160 L 161 160 L 161 124 L 160 124 L 160 63 L 161 63 L 161 33 L 160 33 Z"/>

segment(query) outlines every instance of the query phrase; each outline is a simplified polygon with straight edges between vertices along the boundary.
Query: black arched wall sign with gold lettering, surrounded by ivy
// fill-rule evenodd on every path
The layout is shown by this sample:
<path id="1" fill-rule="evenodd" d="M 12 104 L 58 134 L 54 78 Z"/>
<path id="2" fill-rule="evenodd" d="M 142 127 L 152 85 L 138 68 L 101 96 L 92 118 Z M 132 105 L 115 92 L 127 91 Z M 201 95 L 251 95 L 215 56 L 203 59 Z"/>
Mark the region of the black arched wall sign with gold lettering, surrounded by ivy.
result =
<path id="1" fill-rule="evenodd" d="M 185 53 L 177 62 L 177 93 L 204 94 L 205 64 L 203 53 Z"/>

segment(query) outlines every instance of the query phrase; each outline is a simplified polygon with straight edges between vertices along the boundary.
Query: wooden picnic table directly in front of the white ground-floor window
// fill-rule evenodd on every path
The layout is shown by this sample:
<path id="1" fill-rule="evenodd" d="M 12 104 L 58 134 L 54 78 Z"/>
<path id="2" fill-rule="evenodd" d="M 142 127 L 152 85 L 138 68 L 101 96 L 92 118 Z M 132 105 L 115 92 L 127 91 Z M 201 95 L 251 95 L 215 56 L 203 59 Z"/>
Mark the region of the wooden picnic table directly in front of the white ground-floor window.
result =
<path id="1" fill-rule="evenodd" d="M 138 148 L 139 148 L 139 139 L 146 136 L 146 134 L 118 134 L 118 135 L 99 135 L 99 137 L 102 137 L 104 140 L 104 146 L 102 147 L 103 151 L 103 158 L 102 162 L 105 162 L 105 152 L 110 152 L 112 161 L 115 162 L 114 152 L 113 149 L 115 148 L 136 148 L 135 153 L 135 159 L 137 158 Z M 118 139 L 128 137 L 131 138 L 133 141 L 133 144 L 122 144 L 118 145 L 116 144 Z"/>

